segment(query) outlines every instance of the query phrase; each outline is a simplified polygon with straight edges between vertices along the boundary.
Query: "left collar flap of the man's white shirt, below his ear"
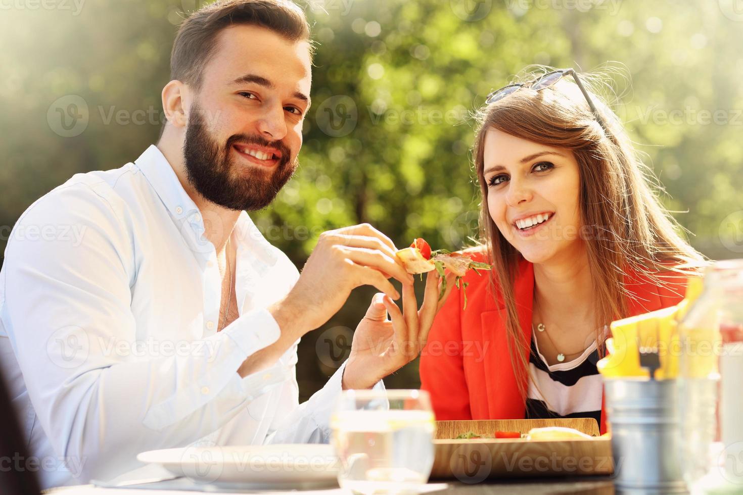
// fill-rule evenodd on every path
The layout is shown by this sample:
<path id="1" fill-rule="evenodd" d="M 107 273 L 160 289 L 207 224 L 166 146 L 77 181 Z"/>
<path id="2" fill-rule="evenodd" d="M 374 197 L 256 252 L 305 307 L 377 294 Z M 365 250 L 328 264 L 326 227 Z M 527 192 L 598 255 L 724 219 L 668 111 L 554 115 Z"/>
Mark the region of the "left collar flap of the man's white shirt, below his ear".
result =
<path id="1" fill-rule="evenodd" d="M 175 218 L 189 217 L 198 208 L 183 186 L 165 155 L 155 145 L 149 145 L 134 163 L 142 171 L 165 207 Z"/>

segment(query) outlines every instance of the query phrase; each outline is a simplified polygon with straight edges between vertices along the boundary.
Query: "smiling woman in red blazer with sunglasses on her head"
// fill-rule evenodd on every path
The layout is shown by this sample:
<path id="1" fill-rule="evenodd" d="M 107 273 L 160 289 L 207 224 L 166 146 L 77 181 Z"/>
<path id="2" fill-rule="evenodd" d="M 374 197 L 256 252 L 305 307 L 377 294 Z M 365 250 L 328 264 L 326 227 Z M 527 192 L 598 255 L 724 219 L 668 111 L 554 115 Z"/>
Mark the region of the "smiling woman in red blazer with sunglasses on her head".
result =
<path id="1" fill-rule="evenodd" d="M 603 433 L 606 325 L 677 304 L 704 265 L 579 77 L 527 73 L 478 114 L 470 253 L 493 269 L 464 279 L 466 308 L 452 292 L 422 352 L 439 420 L 594 417 Z"/>

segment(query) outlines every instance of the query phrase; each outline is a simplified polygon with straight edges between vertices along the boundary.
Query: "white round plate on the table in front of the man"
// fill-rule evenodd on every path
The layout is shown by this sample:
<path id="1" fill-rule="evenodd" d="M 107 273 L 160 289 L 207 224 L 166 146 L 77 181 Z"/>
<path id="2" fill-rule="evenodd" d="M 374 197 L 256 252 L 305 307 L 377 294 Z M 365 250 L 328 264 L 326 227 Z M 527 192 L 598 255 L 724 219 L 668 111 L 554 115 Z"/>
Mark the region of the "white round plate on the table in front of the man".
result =
<path id="1" fill-rule="evenodd" d="M 140 462 L 159 464 L 197 483 L 250 488 L 337 486 L 339 459 L 332 445 L 241 445 L 149 450 Z"/>

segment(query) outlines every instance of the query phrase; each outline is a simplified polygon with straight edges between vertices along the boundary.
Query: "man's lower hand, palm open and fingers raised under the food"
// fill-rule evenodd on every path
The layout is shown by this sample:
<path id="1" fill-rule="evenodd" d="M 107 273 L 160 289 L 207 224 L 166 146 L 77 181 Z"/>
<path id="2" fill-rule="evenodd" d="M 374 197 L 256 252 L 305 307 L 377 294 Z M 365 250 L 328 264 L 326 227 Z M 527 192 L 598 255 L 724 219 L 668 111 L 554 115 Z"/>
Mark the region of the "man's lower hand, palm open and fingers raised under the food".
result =
<path id="1" fill-rule="evenodd" d="M 441 278 L 434 271 L 426 275 L 421 309 L 412 285 L 403 285 L 403 311 L 389 296 L 377 293 L 354 332 L 351 354 L 343 372 L 343 389 L 370 388 L 418 357 L 438 309 L 449 297 L 455 275 L 447 273 L 447 290 L 438 300 Z M 389 321 L 387 314 L 392 316 Z"/>

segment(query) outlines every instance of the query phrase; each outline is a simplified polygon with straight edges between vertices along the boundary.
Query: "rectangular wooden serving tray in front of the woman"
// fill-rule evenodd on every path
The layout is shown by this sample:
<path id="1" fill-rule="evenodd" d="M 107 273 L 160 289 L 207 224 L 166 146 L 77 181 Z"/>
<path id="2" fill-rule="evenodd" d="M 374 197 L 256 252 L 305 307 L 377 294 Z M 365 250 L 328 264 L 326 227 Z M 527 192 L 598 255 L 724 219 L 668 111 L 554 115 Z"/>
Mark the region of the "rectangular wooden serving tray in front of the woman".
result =
<path id="1" fill-rule="evenodd" d="M 496 430 L 528 433 L 531 428 L 574 428 L 595 439 L 454 439 L 474 431 L 493 435 Z M 599 437 L 595 419 L 492 419 L 438 421 L 433 441 L 432 479 L 456 478 L 475 483 L 486 478 L 585 476 L 614 473 L 611 439 Z"/>

